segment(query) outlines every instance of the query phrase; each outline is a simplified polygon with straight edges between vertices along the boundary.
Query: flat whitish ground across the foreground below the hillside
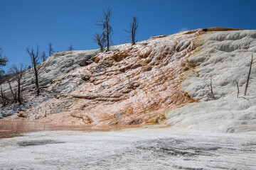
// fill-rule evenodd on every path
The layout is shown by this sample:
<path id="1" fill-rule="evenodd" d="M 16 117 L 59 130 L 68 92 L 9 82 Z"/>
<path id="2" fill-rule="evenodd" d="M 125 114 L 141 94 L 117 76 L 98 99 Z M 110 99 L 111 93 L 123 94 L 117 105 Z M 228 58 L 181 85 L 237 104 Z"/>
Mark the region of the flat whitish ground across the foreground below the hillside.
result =
<path id="1" fill-rule="evenodd" d="M 181 128 L 32 132 L 0 140 L 0 169 L 256 169 L 256 135 Z"/>

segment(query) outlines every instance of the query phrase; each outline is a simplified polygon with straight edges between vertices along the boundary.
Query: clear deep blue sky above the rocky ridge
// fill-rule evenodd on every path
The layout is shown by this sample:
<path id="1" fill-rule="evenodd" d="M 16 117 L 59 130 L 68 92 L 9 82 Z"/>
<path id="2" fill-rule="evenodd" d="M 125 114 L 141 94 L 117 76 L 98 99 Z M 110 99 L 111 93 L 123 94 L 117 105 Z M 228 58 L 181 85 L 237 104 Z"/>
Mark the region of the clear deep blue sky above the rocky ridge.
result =
<path id="1" fill-rule="evenodd" d="M 102 9 L 112 8 L 110 18 L 114 45 L 127 42 L 132 16 L 139 19 L 138 40 L 171 35 L 183 30 L 225 27 L 256 29 L 254 0 L 0 0 L 0 47 L 12 64 L 31 62 L 26 47 L 40 45 L 47 51 L 52 42 L 55 52 L 98 48 L 92 35 Z"/>

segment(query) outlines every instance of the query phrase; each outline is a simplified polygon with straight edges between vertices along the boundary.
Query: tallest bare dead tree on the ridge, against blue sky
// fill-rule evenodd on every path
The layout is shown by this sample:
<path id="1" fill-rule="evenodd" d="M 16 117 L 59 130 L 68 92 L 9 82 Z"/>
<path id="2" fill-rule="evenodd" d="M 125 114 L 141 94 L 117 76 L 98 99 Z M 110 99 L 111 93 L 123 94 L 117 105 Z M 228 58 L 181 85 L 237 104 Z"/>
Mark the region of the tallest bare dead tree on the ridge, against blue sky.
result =
<path id="1" fill-rule="evenodd" d="M 110 26 L 110 17 L 112 16 L 112 9 L 107 8 L 107 11 L 103 9 L 103 16 L 100 21 L 97 21 L 96 25 L 102 27 L 103 33 L 106 35 L 107 51 L 110 50 L 111 36 L 113 33 L 112 26 Z"/>

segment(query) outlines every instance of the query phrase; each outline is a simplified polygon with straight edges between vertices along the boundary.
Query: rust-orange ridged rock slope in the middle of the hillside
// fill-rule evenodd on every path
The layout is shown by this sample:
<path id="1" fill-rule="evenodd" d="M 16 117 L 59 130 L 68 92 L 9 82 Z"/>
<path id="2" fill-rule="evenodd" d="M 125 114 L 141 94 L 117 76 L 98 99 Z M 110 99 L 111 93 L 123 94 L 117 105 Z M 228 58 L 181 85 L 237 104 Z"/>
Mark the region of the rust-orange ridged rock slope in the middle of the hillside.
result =
<path id="1" fill-rule="evenodd" d="M 179 85 L 186 67 L 192 67 L 184 62 L 194 50 L 196 36 L 160 36 L 102 52 L 92 58 L 90 65 L 58 77 L 46 89 L 54 89 L 65 77 L 80 75 L 70 82 L 72 86 L 78 84 L 72 92 L 23 111 L 22 115 L 41 123 L 66 125 L 162 121 L 166 111 L 193 101 Z"/>

